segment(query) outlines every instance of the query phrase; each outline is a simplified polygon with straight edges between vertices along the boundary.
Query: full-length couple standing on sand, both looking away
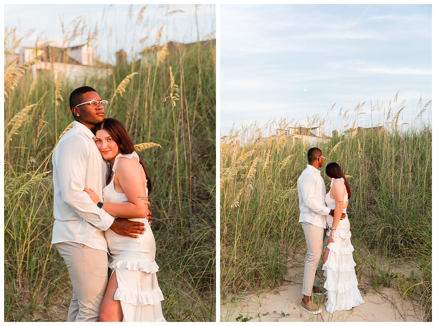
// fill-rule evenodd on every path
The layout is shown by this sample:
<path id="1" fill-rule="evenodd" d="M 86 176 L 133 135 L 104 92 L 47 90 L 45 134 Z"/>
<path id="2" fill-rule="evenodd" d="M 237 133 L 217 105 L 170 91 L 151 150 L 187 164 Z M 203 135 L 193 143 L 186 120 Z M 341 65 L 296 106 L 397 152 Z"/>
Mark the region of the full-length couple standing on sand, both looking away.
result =
<path id="1" fill-rule="evenodd" d="M 327 290 L 326 310 L 349 310 L 364 303 L 357 287 L 351 245 L 350 221 L 347 215 L 348 200 L 351 197 L 350 184 L 344 172 L 335 162 L 326 166 L 330 191 L 326 194 L 324 179 L 319 170 L 324 156 L 319 148 L 307 151 L 309 164 L 297 181 L 300 205 L 299 223 L 303 227 L 307 244 L 304 261 L 303 299 L 301 308 L 312 314 L 322 312 L 311 297 Z M 324 291 L 313 285 L 315 273 L 323 250 L 324 238 L 328 236 L 324 251 Z"/>

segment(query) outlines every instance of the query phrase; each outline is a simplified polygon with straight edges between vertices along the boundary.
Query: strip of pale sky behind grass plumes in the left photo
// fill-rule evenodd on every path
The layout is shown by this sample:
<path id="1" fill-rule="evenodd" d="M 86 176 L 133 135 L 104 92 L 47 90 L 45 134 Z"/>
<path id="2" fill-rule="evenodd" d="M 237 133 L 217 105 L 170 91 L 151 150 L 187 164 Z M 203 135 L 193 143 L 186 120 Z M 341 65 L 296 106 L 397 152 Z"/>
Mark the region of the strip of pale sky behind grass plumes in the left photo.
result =
<path id="1" fill-rule="evenodd" d="M 23 41 L 24 45 L 33 46 L 37 36 L 41 41 L 53 41 L 53 45 L 61 45 L 62 31 L 59 17 L 63 17 L 65 24 L 68 25 L 77 17 L 83 16 L 86 31 L 92 32 L 96 26 L 99 30 L 97 42 L 93 44 L 97 55 L 100 55 L 102 61 L 112 61 L 112 63 L 115 63 L 115 53 L 120 49 L 124 49 L 128 54 L 134 54 L 140 52 L 145 46 L 153 45 L 157 31 L 162 24 L 165 25 L 161 45 L 167 40 L 182 43 L 197 41 L 194 5 L 148 5 L 143 11 L 142 23 L 137 24 L 138 14 L 143 7 L 144 5 L 134 4 L 132 17 L 129 18 L 129 4 L 4 5 L 4 26 L 8 30 L 17 27 L 19 36 L 34 29 L 31 36 Z M 174 10 L 183 12 L 174 12 Z M 210 38 L 216 28 L 215 5 L 199 5 L 197 22 L 200 41 Z M 71 31 L 72 26 L 67 26 L 67 30 Z M 85 33 L 83 37 L 77 37 L 71 45 L 83 44 L 87 36 L 88 34 Z M 144 37 L 148 39 L 140 43 Z M 212 37 L 215 38 L 215 34 Z"/>

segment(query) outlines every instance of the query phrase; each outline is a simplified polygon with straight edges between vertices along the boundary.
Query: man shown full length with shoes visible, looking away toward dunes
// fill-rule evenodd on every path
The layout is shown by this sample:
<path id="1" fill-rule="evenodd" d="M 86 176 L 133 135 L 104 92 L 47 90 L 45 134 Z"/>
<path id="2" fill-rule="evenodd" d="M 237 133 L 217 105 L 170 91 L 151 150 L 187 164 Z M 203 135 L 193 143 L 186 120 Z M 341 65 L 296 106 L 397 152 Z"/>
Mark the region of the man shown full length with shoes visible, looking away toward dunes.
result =
<path id="1" fill-rule="evenodd" d="M 333 216 L 334 210 L 326 207 L 326 186 L 321 177 L 324 156 L 317 147 L 307 151 L 307 168 L 301 173 L 297 181 L 298 199 L 300 204 L 300 219 L 307 244 L 307 254 L 304 261 L 303 299 L 301 308 L 312 314 L 322 311 L 312 301 L 312 293 L 322 293 L 322 289 L 313 286 L 315 273 L 323 250 L 323 241 L 327 232 L 326 215 Z M 345 217 L 342 213 L 341 220 Z"/>

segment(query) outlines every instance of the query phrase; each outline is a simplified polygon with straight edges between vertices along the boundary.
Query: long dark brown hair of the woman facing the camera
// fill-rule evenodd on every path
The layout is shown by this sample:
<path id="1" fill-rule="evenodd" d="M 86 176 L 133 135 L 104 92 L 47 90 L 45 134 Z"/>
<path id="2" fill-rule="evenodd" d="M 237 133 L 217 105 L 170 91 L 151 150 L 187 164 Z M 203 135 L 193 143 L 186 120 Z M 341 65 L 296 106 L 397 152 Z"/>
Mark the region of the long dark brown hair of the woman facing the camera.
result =
<path id="1" fill-rule="evenodd" d="M 135 146 L 133 146 L 132 139 L 130 139 L 129 134 L 127 133 L 126 129 L 124 128 L 123 124 L 113 118 L 106 118 L 103 119 L 103 122 L 100 122 L 98 125 L 95 126 L 94 129 L 94 135 L 98 130 L 106 130 L 109 135 L 113 138 L 115 143 L 119 147 L 119 151 L 123 155 L 131 154 L 135 151 Z M 150 177 L 147 174 L 147 170 L 145 169 L 144 163 L 142 160 L 139 160 L 139 163 L 142 165 L 142 168 L 145 172 L 145 177 L 147 178 L 147 189 L 148 194 L 151 194 L 151 190 L 153 189 L 153 186 L 151 185 Z M 112 169 L 112 167 L 111 167 Z M 110 173 L 109 173 L 110 177 Z M 108 177 L 108 181 L 109 181 Z"/>

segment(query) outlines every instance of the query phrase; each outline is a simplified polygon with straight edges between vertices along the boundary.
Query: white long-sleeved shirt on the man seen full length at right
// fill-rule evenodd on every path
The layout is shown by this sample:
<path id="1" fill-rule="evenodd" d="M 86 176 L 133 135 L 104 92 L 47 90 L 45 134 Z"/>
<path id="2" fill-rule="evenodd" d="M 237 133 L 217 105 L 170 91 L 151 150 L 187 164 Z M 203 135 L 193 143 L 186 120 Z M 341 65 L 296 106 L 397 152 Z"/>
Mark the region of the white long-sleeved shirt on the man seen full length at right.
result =
<path id="1" fill-rule="evenodd" d="M 307 168 L 297 180 L 300 219 L 298 222 L 308 222 L 312 225 L 326 228 L 326 215 L 330 208 L 325 206 L 326 185 L 321 177 L 321 171 L 307 164 Z"/>

